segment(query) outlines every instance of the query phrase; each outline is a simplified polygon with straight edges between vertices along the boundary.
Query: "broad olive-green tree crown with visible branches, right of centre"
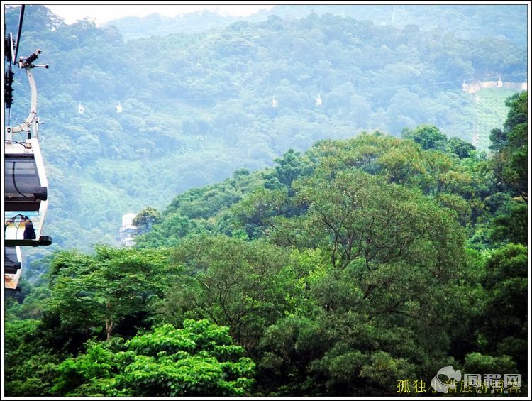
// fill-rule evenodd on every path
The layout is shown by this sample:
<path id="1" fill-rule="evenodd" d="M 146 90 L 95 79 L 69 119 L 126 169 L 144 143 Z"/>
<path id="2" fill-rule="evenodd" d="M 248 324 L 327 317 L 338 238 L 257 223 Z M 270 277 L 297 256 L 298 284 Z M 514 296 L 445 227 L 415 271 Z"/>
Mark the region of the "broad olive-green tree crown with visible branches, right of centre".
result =
<path id="1" fill-rule="evenodd" d="M 424 265 L 426 258 L 433 260 L 437 254 L 440 260 L 434 260 L 433 268 L 439 265 L 436 269 L 443 273 L 455 265 L 450 258 L 458 258 L 455 253 L 460 252 L 463 234 L 435 202 L 414 190 L 345 170 L 335 177 L 302 180 L 297 191 L 299 202 L 309 207 L 306 231 L 322 236 L 334 266 L 345 268 L 356 258 L 362 258 L 370 270 L 374 264 L 396 260 Z M 445 246 L 435 241 L 444 237 Z M 431 243 L 432 255 L 417 253 L 416 243 L 425 240 Z"/>

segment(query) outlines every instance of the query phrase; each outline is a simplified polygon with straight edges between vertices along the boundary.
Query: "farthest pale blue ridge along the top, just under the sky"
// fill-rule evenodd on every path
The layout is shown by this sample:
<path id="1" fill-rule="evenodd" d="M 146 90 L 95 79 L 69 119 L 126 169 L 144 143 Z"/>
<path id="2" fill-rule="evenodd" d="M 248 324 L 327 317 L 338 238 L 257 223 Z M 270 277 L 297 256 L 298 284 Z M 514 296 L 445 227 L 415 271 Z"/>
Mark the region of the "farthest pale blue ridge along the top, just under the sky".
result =
<path id="1" fill-rule="evenodd" d="M 416 25 L 423 31 L 444 29 L 453 31 L 458 37 L 471 39 L 497 35 L 504 36 L 516 44 L 526 45 L 526 5 L 493 4 L 478 7 L 474 4 L 297 4 L 297 6 L 277 5 L 261 10 L 245 18 L 245 21 L 265 21 L 277 15 L 284 19 L 306 18 L 309 13 L 336 14 L 358 20 L 372 21 L 376 25 L 404 28 Z M 121 18 L 104 26 L 115 26 L 125 40 L 170 33 L 197 33 L 214 28 L 223 28 L 238 18 L 220 15 L 213 11 L 198 11 L 174 18 L 153 13 L 146 18 Z"/>

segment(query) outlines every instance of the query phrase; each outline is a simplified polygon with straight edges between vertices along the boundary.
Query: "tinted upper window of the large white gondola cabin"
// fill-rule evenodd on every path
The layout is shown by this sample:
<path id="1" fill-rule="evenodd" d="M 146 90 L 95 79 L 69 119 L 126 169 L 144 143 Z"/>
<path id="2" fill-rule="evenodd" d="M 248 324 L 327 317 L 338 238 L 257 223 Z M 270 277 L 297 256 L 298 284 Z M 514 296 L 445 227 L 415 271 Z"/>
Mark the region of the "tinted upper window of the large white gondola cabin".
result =
<path id="1" fill-rule="evenodd" d="M 33 155 L 6 155 L 4 167 L 6 202 L 46 199 Z"/>

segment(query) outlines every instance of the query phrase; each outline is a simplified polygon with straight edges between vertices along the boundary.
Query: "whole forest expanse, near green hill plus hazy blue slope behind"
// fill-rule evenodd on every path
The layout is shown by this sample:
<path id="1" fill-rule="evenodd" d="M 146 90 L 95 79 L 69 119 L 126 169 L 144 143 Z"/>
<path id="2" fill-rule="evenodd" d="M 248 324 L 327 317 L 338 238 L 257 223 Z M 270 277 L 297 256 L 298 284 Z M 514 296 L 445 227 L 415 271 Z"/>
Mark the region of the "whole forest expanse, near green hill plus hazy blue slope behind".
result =
<path id="1" fill-rule="evenodd" d="M 5 395 L 440 395 L 445 366 L 527 394 L 528 94 L 480 92 L 504 117 L 475 148 L 460 89 L 526 82 L 526 44 L 316 12 L 124 40 L 26 9 L 55 245 L 6 292 Z"/>

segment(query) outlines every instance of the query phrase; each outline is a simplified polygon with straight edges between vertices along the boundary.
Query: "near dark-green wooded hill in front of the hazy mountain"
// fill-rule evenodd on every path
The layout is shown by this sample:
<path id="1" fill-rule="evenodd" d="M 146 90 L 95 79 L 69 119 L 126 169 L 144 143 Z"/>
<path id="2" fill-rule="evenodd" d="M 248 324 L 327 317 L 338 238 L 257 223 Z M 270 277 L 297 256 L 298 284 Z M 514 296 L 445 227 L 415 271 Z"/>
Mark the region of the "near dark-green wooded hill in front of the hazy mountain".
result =
<path id="1" fill-rule="evenodd" d="M 6 394 L 430 395 L 452 365 L 525 395 L 526 92 L 507 104 L 491 160 L 429 125 L 318 141 L 143 210 L 136 248 L 55 253 L 7 300 Z"/>

